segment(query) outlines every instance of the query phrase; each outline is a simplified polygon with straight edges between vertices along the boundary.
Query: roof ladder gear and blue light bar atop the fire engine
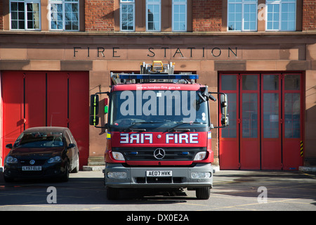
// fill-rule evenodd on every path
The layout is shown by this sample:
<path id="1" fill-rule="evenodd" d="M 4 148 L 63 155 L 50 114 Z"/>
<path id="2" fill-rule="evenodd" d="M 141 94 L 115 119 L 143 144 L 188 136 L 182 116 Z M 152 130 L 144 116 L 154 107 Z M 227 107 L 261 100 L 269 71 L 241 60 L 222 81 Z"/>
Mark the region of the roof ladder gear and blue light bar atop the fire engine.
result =
<path id="1" fill-rule="evenodd" d="M 194 84 L 199 75 L 188 73 L 173 74 L 176 63 L 163 64 L 162 61 L 140 63 L 140 74 L 126 74 L 111 72 L 111 79 L 114 84 L 143 84 L 143 83 L 176 83 Z"/>

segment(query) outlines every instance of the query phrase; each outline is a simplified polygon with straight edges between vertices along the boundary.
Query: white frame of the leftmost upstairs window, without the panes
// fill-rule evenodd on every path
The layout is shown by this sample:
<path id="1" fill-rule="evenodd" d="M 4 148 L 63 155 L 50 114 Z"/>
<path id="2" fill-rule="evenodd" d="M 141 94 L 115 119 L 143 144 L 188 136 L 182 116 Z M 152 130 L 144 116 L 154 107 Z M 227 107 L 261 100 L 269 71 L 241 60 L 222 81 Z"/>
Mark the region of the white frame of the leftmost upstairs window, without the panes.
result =
<path id="1" fill-rule="evenodd" d="M 11 9 L 11 3 L 23 3 L 24 4 L 24 29 L 15 29 L 12 28 L 12 9 Z M 27 4 L 39 4 L 39 28 L 27 28 Z M 9 29 L 10 30 L 17 30 L 17 31 L 40 31 L 41 30 L 41 0 L 10 0 L 9 1 L 9 10 L 10 10 L 10 23 L 9 23 Z M 18 11 L 17 11 L 18 12 Z M 20 20 L 18 20 L 18 23 Z"/>

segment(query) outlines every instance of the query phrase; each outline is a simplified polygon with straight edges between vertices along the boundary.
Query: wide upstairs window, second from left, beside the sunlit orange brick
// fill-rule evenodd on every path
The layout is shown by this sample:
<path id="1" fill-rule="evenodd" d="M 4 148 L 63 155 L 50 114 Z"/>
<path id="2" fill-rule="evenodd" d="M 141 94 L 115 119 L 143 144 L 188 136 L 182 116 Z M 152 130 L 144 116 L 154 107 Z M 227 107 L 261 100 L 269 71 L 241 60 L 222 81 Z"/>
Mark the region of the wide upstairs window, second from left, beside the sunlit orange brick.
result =
<path id="1" fill-rule="evenodd" d="M 79 30 L 79 0 L 49 0 L 51 30 Z"/>

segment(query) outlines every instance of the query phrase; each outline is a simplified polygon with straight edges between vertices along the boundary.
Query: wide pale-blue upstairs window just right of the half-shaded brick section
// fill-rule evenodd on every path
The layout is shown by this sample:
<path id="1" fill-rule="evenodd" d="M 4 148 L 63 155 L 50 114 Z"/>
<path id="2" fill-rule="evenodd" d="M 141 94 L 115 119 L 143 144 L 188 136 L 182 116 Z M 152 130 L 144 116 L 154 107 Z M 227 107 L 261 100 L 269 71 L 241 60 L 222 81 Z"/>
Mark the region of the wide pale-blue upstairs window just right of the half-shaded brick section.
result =
<path id="1" fill-rule="evenodd" d="M 257 30 L 257 0 L 228 0 L 228 30 Z"/>

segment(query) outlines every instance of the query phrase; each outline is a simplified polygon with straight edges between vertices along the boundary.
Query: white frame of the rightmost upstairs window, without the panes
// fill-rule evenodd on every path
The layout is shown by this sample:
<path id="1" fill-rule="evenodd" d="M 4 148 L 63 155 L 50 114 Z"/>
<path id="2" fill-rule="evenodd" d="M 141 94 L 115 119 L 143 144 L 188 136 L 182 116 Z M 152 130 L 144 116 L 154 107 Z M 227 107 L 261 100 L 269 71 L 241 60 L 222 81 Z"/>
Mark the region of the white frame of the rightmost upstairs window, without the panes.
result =
<path id="1" fill-rule="evenodd" d="M 282 4 L 294 4 L 294 30 L 282 30 Z M 297 0 L 266 0 L 265 2 L 266 7 L 265 7 L 265 15 L 266 15 L 266 20 L 265 20 L 265 31 L 272 32 L 272 31 L 279 31 L 279 32 L 291 32 L 291 31 L 296 31 L 296 10 L 297 10 Z M 279 27 L 278 29 L 268 29 L 268 5 L 279 5 Z M 289 22 L 289 20 L 287 20 Z M 272 20 L 273 23 L 273 20 Z"/>

